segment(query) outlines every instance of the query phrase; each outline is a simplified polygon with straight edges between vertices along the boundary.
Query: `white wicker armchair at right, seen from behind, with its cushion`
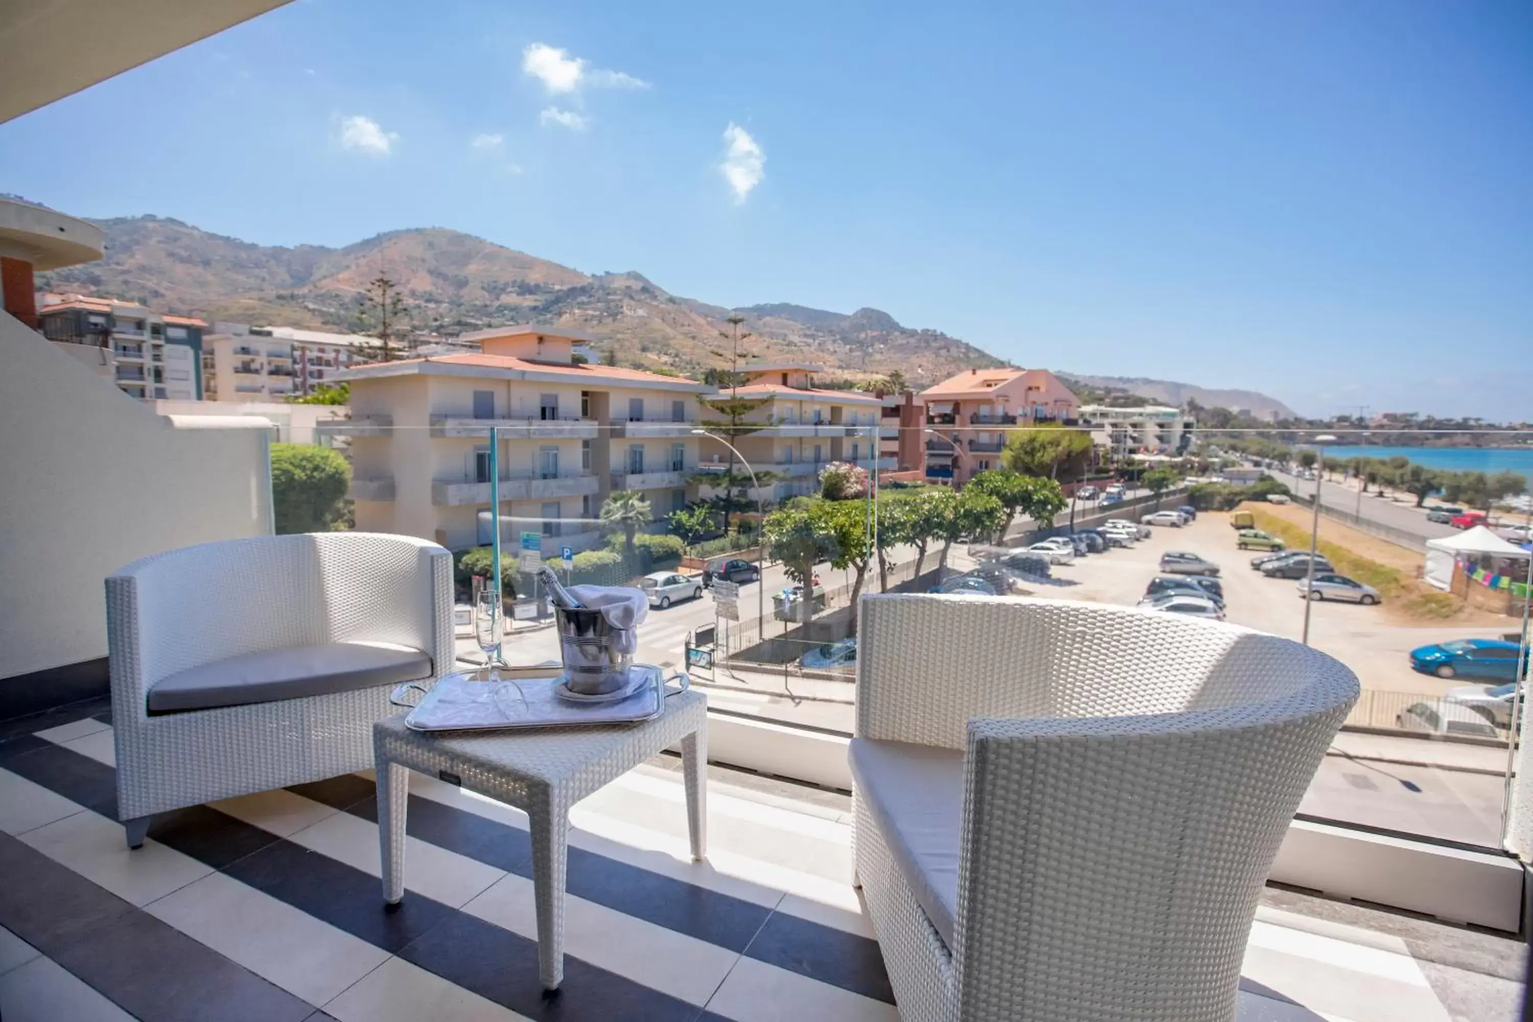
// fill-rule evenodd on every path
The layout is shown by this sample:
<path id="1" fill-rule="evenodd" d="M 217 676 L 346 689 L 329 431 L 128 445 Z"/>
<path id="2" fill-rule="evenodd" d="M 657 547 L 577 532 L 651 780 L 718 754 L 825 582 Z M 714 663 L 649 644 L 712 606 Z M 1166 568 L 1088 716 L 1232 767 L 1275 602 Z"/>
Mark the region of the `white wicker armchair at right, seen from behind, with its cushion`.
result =
<path id="1" fill-rule="evenodd" d="M 901 1017 L 1234 1019 L 1352 673 L 1098 604 L 868 596 L 860 617 L 855 867 Z"/>

